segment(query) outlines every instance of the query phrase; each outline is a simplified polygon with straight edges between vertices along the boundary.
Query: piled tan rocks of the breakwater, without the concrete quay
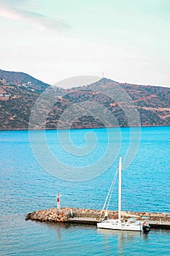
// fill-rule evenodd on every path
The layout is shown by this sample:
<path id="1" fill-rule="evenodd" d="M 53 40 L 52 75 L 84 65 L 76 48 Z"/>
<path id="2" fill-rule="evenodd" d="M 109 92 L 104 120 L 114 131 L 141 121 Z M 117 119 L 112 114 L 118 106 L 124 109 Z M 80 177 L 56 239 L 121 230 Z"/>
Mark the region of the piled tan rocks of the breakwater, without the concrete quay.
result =
<path id="1" fill-rule="evenodd" d="M 150 221 L 162 221 L 170 222 L 170 214 L 166 213 L 147 213 L 136 211 L 122 211 L 121 215 L 123 219 L 129 217 L 135 217 L 136 219 L 142 219 L 147 217 Z M 94 209 L 79 209 L 79 208 L 51 208 L 46 210 L 34 211 L 26 215 L 26 220 L 31 219 L 39 222 L 66 222 L 70 218 L 93 218 L 96 219 L 101 216 L 104 218 L 104 212 L 101 214 L 101 210 Z M 108 211 L 108 219 L 117 218 L 117 211 Z"/>

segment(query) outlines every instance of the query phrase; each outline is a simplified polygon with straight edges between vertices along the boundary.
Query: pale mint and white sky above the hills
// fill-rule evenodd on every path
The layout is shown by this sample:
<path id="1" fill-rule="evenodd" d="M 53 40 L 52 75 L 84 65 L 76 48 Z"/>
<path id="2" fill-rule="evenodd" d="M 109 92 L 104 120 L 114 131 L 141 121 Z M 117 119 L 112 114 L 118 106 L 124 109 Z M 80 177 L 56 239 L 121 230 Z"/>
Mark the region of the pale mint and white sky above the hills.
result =
<path id="1" fill-rule="evenodd" d="M 170 87 L 169 0 L 0 0 L 0 69 Z"/>

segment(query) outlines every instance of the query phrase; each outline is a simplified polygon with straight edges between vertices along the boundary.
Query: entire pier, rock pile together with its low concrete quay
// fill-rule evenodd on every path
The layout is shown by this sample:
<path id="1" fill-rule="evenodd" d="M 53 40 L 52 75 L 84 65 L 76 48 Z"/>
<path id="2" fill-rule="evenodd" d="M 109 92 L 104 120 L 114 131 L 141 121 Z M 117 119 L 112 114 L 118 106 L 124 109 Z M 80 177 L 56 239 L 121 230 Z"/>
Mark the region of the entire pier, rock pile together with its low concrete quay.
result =
<path id="1" fill-rule="evenodd" d="M 170 229 L 170 214 L 168 213 L 147 213 L 147 212 L 121 212 L 123 219 L 135 217 L 142 220 L 147 218 L 150 227 Z M 117 211 L 108 211 L 108 219 L 117 218 Z M 51 208 L 34 211 L 27 214 L 26 220 L 31 219 L 39 222 L 66 222 L 83 225 L 96 225 L 104 219 L 104 212 L 95 209 L 79 208 Z"/>

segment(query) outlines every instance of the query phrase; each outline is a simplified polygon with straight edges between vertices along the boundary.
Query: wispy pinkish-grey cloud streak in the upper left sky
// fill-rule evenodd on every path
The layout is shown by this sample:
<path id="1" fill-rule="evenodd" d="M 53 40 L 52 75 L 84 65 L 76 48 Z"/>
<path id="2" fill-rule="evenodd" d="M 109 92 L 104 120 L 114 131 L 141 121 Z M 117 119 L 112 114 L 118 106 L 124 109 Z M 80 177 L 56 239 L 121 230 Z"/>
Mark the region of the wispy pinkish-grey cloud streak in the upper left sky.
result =
<path id="1" fill-rule="evenodd" d="M 49 18 L 38 12 L 21 10 L 20 4 L 23 5 L 24 2 L 27 2 L 27 0 L 0 0 L 0 16 L 10 20 L 26 21 L 41 31 L 51 30 L 55 33 L 60 33 L 70 29 L 69 24 L 59 18 Z"/>

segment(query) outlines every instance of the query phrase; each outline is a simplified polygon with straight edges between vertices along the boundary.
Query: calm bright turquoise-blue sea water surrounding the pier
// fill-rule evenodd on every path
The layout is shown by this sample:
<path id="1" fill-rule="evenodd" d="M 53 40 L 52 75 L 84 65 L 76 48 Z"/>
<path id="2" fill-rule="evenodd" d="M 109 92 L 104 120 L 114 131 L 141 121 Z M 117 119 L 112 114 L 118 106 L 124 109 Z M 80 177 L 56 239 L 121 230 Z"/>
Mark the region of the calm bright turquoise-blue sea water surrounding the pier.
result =
<path id="1" fill-rule="evenodd" d="M 170 255 L 170 230 L 26 221 L 56 207 L 101 209 L 123 158 L 122 210 L 170 213 L 170 127 L 0 132 L 0 255 Z M 117 210 L 117 180 L 109 203 Z"/>

